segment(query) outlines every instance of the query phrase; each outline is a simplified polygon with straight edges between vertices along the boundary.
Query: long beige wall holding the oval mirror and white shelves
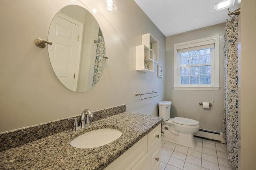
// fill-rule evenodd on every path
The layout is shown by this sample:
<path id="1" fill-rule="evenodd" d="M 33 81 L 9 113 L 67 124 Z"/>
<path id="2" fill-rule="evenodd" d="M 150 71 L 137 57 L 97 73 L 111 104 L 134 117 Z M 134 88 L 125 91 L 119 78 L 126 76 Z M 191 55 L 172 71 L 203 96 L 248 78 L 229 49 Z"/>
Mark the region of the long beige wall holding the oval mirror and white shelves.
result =
<path id="1" fill-rule="evenodd" d="M 98 11 L 94 16 L 109 57 L 99 83 L 84 93 L 64 87 L 52 70 L 47 47 L 34 45 L 37 37 L 47 39 L 52 18 L 68 4 Z M 157 71 L 136 71 L 135 54 L 141 35 L 151 33 L 159 41 L 159 64 L 165 66 L 165 37 L 133 0 L 116 4 L 118 10 L 108 13 L 102 0 L 0 1 L 0 132 L 120 104 L 127 104 L 127 111 L 157 115 L 157 104 L 165 98 L 164 78 Z M 159 96 L 135 96 L 152 90 Z"/>

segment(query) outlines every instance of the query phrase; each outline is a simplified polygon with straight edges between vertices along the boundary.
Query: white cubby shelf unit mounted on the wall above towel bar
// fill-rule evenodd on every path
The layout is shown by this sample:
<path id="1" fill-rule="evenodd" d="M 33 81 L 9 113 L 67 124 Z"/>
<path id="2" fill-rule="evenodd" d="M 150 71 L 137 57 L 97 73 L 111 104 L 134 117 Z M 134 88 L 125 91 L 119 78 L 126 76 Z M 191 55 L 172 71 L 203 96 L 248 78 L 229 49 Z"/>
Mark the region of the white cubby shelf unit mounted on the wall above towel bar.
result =
<path id="1" fill-rule="evenodd" d="M 154 72 L 158 63 L 158 41 L 150 34 L 142 35 L 142 45 L 136 46 L 136 70 Z"/>

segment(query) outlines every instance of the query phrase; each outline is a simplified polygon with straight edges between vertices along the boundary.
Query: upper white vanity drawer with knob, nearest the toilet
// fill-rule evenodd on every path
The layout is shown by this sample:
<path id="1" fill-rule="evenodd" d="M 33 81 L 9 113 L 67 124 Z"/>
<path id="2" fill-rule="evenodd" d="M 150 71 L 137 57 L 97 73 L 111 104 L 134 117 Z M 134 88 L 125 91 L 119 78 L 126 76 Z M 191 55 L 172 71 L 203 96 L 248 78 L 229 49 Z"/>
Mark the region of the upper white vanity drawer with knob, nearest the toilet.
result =
<path id="1" fill-rule="evenodd" d="M 148 150 L 150 150 L 161 137 L 161 123 L 148 133 Z"/>

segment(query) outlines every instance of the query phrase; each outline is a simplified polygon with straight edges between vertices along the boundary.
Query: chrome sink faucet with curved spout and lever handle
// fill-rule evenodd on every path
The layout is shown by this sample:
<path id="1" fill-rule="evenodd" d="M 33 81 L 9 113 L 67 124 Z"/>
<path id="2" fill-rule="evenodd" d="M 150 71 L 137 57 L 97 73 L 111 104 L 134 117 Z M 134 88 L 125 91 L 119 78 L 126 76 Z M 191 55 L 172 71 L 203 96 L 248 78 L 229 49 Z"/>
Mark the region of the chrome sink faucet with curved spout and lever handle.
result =
<path id="1" fill-rule="evenodd" d="M 74 119 L 74 127 L 73 127 L 73 131 L 77 131 L 79 129 L 84 129 L 85 127 L 90 126 L 90 119 L 89 117 L 93 117 L 93 112 L 90 111 L 89 109 L 84 109 L 80 115 L 80 126 L 78 126 L 77 123 L 77 119 L 76 118 L 68 118 L 70 119 Z"/>

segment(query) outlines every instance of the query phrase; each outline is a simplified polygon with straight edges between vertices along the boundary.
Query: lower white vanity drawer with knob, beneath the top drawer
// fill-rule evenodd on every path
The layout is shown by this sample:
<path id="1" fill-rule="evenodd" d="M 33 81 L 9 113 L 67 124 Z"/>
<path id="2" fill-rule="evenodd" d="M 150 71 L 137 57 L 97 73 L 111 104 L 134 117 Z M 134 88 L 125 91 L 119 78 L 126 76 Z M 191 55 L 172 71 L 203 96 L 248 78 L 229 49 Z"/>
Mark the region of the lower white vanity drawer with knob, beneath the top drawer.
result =
<path id="1" fill-rule="evenodd" d="M 161 140 L 148 152 L 148 170 L 158 170 L 161 162 Z"/>

